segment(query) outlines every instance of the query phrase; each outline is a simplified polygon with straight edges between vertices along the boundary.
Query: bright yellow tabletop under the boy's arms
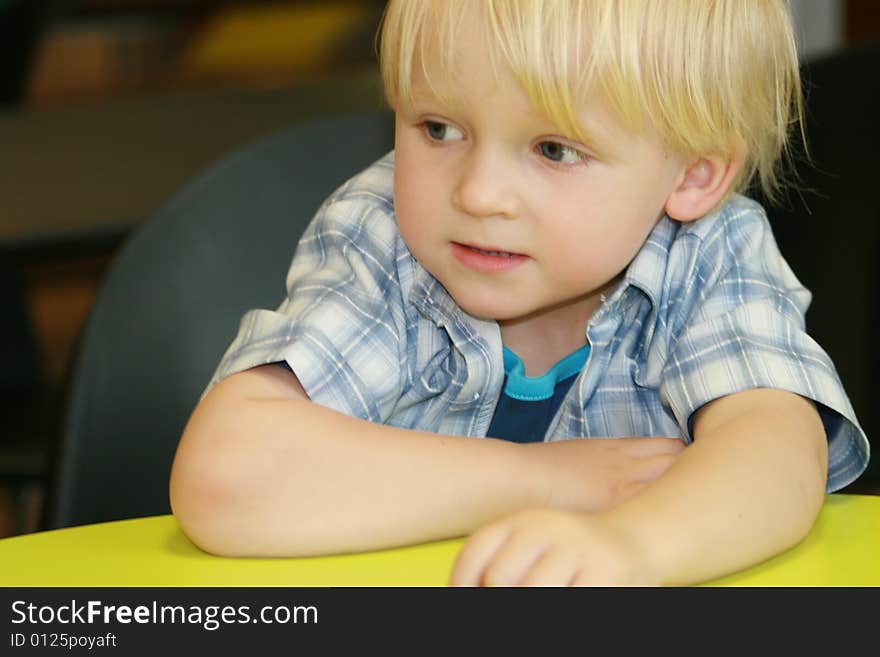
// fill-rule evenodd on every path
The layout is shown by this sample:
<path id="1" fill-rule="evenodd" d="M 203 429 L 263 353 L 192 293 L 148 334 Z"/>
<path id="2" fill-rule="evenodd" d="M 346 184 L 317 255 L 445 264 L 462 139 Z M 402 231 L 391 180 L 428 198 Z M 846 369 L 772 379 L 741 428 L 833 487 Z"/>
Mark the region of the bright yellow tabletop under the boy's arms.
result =
<path id="1" fill-rule="evenodd" d="M 462 543 L 226 559 L 196 548 L 172 516 L 155 516 L 0 540 L 0 586 L 442 586 Z M 798 546 L 712 584 L 880 585 L 880 497 L 829 495 Z"/>

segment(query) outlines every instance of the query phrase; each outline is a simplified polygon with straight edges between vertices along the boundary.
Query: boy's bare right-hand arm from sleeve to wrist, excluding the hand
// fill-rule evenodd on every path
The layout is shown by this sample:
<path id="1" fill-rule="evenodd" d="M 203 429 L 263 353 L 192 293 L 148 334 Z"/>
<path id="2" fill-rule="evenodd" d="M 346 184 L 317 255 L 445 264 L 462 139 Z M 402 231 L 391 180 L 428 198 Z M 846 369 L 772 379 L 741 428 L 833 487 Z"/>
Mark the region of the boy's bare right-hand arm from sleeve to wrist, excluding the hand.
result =
<path id="1" fill-rule="evenodd" d="M 824 500 L 826 438 L 807 400 L 732 395 L 704 409 L 695 436 L 664 476 L 604 514 L 664 585 L 713 579 L 795 545 Z"/>

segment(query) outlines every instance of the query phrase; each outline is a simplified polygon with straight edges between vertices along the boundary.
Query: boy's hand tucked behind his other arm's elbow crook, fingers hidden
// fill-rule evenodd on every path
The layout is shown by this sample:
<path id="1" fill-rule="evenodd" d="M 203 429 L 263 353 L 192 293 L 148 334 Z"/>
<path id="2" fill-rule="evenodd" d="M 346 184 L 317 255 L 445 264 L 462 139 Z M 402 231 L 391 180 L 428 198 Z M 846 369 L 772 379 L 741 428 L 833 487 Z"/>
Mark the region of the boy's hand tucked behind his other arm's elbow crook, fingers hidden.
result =
<path id="1" fill-rule="evenodd" d="M 542 506 L 602 511 L 662 475 L 685 449 L 678 438 L 586 438 L 528 443 L 529 460 L 543 464 Z"/>

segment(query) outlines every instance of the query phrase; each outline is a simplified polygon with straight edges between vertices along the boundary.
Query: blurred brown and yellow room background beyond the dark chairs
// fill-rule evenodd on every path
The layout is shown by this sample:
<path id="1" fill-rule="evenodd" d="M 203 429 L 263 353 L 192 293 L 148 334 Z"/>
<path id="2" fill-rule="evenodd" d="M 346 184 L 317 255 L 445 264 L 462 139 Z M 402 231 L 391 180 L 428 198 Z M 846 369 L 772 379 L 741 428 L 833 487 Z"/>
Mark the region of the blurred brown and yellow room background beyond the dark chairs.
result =
<path id="1" fill-rule="evenodd" d="M 66 377 L 116 249 L 235 148 L 379 108 L 383 7 L 0 0 L 0 536 L 40 528 Z M 874 0 L 792 7 L 805 60 L 880 35 Z"/>

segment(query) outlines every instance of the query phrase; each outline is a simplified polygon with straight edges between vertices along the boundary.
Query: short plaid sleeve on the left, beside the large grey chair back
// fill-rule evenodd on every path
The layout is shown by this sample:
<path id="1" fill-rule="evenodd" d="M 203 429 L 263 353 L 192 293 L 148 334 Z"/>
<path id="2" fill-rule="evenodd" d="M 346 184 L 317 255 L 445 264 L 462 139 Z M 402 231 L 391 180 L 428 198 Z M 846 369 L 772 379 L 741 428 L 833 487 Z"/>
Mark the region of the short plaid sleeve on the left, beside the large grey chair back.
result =
<path id="1" fill-rule="evenodd" d="M 331 197 L 297 246 L 287 297 L 241 320 L 211 381 L 286 362 L 309 397 L 383 422 L 400 396 L 405 318 L 390 203 L 366 191 Z"/>

